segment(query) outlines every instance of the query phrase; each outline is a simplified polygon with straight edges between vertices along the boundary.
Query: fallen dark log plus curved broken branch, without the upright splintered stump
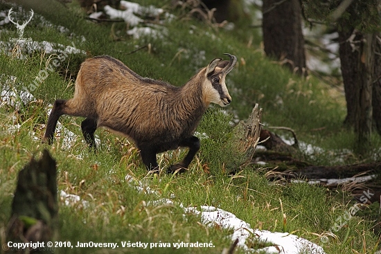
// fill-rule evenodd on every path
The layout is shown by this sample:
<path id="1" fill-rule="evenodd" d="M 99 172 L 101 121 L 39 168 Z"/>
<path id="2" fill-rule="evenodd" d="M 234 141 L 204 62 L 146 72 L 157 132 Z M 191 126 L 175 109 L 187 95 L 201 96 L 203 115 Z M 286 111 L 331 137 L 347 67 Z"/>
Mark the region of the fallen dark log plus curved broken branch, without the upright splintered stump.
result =
<path id="1" fill-rule="evenodd" d="M 381 187 L 378 175 L 381 174 L 381 162 L 337 166 L 311 165 L 294 157 L 300 151 L 296 134 L 292 129 L 269 128 L 291 131 L 294 137 L 294 144 L 287 145 L 272 131 L 267 129 L 260 131 L 259 144 L 267 150 L 257 151 L 254 160 L 267 163 L 269 168 L 267 178 L 270 181 L 305 181 L 330 190 L 351 192 L 356 199 L 367 190 L 374 194 L 369 197 L 370 202 L 380 202 Z"/>

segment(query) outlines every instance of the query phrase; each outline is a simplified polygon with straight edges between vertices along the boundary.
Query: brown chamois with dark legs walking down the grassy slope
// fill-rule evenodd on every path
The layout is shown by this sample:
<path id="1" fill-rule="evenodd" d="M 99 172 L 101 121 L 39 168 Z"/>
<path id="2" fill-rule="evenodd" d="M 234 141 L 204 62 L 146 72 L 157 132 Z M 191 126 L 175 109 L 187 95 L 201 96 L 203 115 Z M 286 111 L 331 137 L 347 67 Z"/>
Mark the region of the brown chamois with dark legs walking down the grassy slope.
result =
<path id="1" fill-rule="evenodd" d="M 184 172 L 200 149 L 193 132 L 209 104 L 224 107 L 231 102 L 225 77 L 237 57 L 225 55 L 229 61 L 212 60 L 182 87 L 142 78 L 107 55 L 87 59 L 78 72 L 74 97 L 55 100 L 42 142 L 53 143 L 60 116 L 82 116 L 82 134 L 90 147 L 96 147 L 96 129 L 105 127 L 132 140 L 148 170 L 159 170 L 157 153 L 189 147 L 184 160 L 168 170 Z"/>

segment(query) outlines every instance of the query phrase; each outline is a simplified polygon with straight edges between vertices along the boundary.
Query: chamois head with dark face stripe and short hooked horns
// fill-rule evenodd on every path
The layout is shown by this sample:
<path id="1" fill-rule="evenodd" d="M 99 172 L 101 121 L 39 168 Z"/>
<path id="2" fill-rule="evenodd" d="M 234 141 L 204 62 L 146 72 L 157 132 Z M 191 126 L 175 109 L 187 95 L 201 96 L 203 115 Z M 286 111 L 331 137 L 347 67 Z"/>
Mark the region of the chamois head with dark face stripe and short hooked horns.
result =
<path id="1" fill-rule="evenodd" d="M 231 97 L 229 91 L 227 91 L 227 85 L 225 84 L 225 77 L 227 73 L 233 69 L 236 65 L 237 57 L 230 54 L 224 54 L 230 57 L 229 61 L 222 61 L 221 58 L 212 60 L 208 66 L 206 66 L 204 88 L 204 101 L 206 105 L 210 102 L 225 107 L 230 104 Z"/>

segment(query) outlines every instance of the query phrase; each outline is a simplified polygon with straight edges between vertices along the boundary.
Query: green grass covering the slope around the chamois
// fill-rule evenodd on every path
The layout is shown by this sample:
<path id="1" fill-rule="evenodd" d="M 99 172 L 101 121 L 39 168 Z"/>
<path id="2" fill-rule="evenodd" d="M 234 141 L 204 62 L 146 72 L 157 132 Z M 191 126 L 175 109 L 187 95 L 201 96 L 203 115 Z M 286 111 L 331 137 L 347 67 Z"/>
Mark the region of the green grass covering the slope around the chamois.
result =
<path id="1" fill-rule="evenodd" d="M 143 1 L 162 6 L 161 1 Z M 57 5 L 57 3 L 51 3 Z M 255 47 L 247 48 L 245 39 L 240 42 L 234 32 L 216 32 L 197 21 L 182 21 L 166 24 L 168 34 L 165 39 L 145 37 L 134 40 L 125 37 L 124 32 L 114 34 L 113 30 L 125 30 L 121 24 L 116 29 L 109 24 L 93 24 L 83 19 L 84 14 L 76 4 L 70 10 L 62 6 L 33 6 L 53 24 L 62 25 L 76 35 L 84 35 L 86 42 L 76 37 L 58 33 L 54 28 L 40 28 L 37 21 L 27 26 L 24 37 L 35 41 L 46 40 L 70 45 L 74 42 L 85 50 L 88 56 L 112 55 L 125 62 L 136 73 L 150 78 L 166 80 L 172 84 L 184 84 L 195 71 L 208 64 L 214 57 L 229 52 L 245 59 L 229 74 L 227 86 L 233 97 L 229 110 L 239 118 L 246 118 L 254 106 L 260 103 L 264 108 L 263 121 L 269 125 L 281 125 L 296 129 L 299 138 L 305 142 L 326 149 L 351 149 L 351 132 L 340 129 L 345 116 L 342 104 L 330 97 L 328 87 L 310 77 L 299 80 L 287 71 L 266 60 L 263 53 Z M 56 17 L 58 16 L 58 18 Z M 34 20 L 34 19 L 33 19 Z M 1 33 L 1 40 L 16 37 L 15 28 L 6 26 L 9 32 Z M 189 31 L 192 30 L 192 33 Z M 121 40 L 114 41 L 118 36 Z M 259 41 L 258 38 L 255 40 Z M 150 43 L 152 51 L 141 50 L 131 55 L 136 46 Z M 205 51 L 205 59 L 200 61 L 200 51 Z M 202 55 L 201 55 L 202 56 Z M 15 87 L 30 84 L 39 70 L 48 62 L 48 55 L 34 53 L 26 60 L 17 60 L 0 54 L 1 73 L 18 78 Z M 46 105 L 55 98 L 70 98 L 73 93 L 73 81 L 69 79 L 78 71 L 85 56 L 72 55 L 50 73 L 42 85 L 33 94 L 42 103 L 31 103 L 15 114 L 11 107 L 0 108 L 0 237 L 10 214 L 12 192 L 15 189 L 17 172 L 31 156 L 39 155 L 43 148 L 39 140 L 33 140 L 30 131 L 38 137 L 44 133 L 46 123 Z M 62 75 L 67 71 L 67 79 Z M 61 74 L 61 75 L 60 75 Z M 8 131 L 12 123 L 10 116 L 15 115 L 21 127 L 17 131 Z M 251 226 L 282 232 L 283 221 L 281 203 L 287 215 L 287 231 L 307 239 L 319 242 L 324 234 L 351 204 L 343 199 L 331 198 L 322 188 L 306 184 L 269 185 L 265 179 L 265 170 L 245 168 L 238 176 L 230 177 L 225 173 L 237 167 L 236 153 L 231 145 L 231 116 L 226 116 L 218 107 L 210 109 L 204 116 L 198 129 L 210 137 L 202 141 L 198 157 L 190 165 L 190 172 L 171 178 L 167 175 L 152 179 L 146 176 L 146 170 L 139 161 L 136 149 L 132 145 L 122 145 L 126 140 L 97 131 L 100 136 L 100 149 L 96 155 L 88 154 L 82 138 L 69 149 L 62 149 L 62 140 L 57 140 L 48 149 L 58 163 L 58 184 L 60 190 L 78 194 L 89 201 L 90 208 L 80 206 L 60 206 L 60 240 L 71 242 L 209 242 L 216 246 L 212 249 L 194 248 L 192 253 L 221 253 L 222 248 L 230 245 L 229 230 L 219 227 L 207 227 L 198 224 L 199 218 L 182 216 L 177 206 L 148 206 L 148 201 L 158 199 L 154 194 L 138 193 L 125 183 L 126 172 L 149 185 L 160 193 L 160 197 L 169 198 L 175 194 L 174 201 L 184 206 L 203 204 L 216 206 L 233 212 Z M 80 119 L 64 117 L 62 123 L 74 133 L 80 135 Z M 311 129 L 324 127 L 321 131 Z M 375 137 L 375 144 L 380 144 Z M 161 165 L 176 161 L 181 152 L 160 156 Z M 312 163 L 330 164 L 335 154 L 320 152 L 315 158 L 306 158 Z M 355 156 L 351 161 L 357 161 Z M 372 253 L 377 239 L 371 233 L 370 226 L 361 218 L 348 221 L 348 227 L 339 230 L 337 238 L 330 237 L 324 246 L 327 253 Z M 348 230 L 348 231 L 347 231 Z M 346 236 L 346 233 L 348 235 Z M 1 238 L 3 241 L 3 238 Z M 58 251 L 69 252 L 64 248 Z M 70 253 L 93 253 L 98 249 L 71 249 Z M 128 250 L 119 250 L 128 252 Z M 152 253 L 152 250 L 133 249 L 134 253 Z M 188 249 L 179 248 L 176 253 L 188 253 Z M 155 253 L 168 253 L 166 248 L 155 248 Z"/>

